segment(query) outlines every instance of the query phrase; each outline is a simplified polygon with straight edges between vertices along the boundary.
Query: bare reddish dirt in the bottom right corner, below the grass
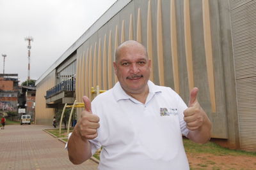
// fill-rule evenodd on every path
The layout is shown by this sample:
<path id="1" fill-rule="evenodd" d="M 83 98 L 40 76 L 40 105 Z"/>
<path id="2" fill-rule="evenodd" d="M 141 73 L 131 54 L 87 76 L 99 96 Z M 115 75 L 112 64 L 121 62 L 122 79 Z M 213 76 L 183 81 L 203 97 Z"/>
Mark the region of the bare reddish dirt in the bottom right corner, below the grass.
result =
<path id="1" fill-rule="evenodd" d="M 191 170 L 256 170 L 256 158 L 250 156 L 212 155 L 209 153 L 187 153 Z"/>

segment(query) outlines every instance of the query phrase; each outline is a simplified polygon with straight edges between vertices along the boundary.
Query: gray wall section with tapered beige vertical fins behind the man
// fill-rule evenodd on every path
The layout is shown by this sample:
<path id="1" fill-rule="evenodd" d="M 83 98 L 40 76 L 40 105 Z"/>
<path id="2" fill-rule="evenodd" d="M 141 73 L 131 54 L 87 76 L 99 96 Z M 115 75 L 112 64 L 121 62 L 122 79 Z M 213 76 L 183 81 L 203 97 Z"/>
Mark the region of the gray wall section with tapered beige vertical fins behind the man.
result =
<path id="1" fill-rule="evenodd" d="M 198 87 L 200 104 L 214 124 L 212 137 L 227 139 L 219 18 L 218 1 L 131 1 L 77 49 L 77 101 L 83 95 L 92 99 L 91 87 L 115 85 L 116 46 L 136 39 L 152 59 L 150 80 L 172 87 L 184 101 Z"/>

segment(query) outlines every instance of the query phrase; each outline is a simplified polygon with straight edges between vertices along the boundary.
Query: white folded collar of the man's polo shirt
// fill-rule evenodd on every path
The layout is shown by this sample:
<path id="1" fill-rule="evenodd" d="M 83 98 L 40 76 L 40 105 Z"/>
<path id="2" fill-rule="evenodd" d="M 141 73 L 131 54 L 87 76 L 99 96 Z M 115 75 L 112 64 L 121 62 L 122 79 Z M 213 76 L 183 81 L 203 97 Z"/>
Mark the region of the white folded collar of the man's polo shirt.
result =
<path id="1" fill-rule="evenodd" d="M 154 96 L 157 92 L 161 92 L 161 89 L 159 86 L 155 85 L 152 81 L 148 80 L 148 89 L 150 96 Z M 132 99 L 131 96 L 129 96 L 124 89 L 122 89 L 119 81 L 115 84 L 113 87 L 113 96 L 115 97 L 116 101 L 125 100 L 125 99 Z"/>

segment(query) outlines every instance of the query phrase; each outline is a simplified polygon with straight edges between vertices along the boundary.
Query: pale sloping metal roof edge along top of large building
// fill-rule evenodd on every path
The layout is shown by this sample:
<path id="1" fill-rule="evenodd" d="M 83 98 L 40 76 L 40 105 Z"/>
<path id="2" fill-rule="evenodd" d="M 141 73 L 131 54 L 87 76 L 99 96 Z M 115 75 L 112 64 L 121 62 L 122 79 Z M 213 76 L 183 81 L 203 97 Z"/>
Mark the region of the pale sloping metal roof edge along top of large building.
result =
<path id="1" fill-rule="evenodd" d="M 100 29 L 104 24 L 106 24 L 112 17 L 116 15 L 122 8 L 124 8 L 128 3 L 130 3 L 132 0 L 117 0 L 108 10 L 98 19 L 96 22 L 92 24 L 85 32 L 84 34 L 77 39 L 73 45 L 71 45 L 64 53 L 61 55 L 60 58 L 58 58 L 52 66 L 50 66 L 45 73 L 43 73 L 38 80 L 36 80 L 35 85 L 40 83 L 40 81 L 44 80 L 44 78 L 50 74 L 54 69 L 56 69 L 57 66 L 61 64 L 67 57 L 72 54 L 79 46 L 81 46 L 90 36 L 92 36 L 96 31 Z"/>

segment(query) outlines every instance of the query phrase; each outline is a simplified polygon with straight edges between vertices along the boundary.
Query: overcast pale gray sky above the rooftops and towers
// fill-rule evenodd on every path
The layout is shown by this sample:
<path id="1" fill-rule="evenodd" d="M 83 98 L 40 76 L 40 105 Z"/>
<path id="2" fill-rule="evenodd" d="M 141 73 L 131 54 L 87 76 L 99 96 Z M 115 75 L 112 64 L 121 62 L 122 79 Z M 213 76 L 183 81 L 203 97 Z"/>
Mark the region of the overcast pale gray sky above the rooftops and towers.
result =
<path id="1" fill-rule="evenodd" d="M 0 54 L 4 73 L 38 79 L 116 0 L 0 0 Z M 0 73 L 3 57 L 0 56 Z"/>

